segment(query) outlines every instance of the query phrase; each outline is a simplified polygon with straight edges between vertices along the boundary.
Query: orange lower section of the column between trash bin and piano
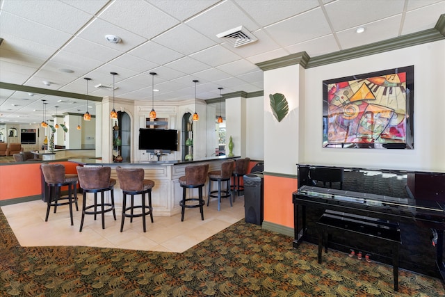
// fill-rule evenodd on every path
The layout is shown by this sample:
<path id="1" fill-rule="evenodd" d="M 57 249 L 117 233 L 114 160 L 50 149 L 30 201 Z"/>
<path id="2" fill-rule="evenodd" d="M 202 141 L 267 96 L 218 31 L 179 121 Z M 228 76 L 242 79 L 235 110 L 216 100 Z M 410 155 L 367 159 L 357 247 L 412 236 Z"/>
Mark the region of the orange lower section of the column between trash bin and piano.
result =
<path id="1" fill-rule="evenodd" d="M 264 220 L 293 228 L 292 193 L 297 179 L 264 175 Z"/>

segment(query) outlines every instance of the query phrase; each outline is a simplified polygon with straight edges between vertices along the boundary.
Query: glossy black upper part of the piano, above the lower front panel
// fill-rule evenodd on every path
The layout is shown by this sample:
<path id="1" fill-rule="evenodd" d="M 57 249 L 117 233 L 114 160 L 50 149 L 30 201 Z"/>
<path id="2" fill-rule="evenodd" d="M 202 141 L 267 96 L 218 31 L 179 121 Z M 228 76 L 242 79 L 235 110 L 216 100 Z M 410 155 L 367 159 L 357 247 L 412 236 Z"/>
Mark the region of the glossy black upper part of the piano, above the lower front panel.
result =
<path id="1" fill-rule="evenodd" d="M 374 207 L 443 212 L 445 173 L 298 164 L 300 193 Z M 414 209 L 412 208 L 414 207 Z"/>

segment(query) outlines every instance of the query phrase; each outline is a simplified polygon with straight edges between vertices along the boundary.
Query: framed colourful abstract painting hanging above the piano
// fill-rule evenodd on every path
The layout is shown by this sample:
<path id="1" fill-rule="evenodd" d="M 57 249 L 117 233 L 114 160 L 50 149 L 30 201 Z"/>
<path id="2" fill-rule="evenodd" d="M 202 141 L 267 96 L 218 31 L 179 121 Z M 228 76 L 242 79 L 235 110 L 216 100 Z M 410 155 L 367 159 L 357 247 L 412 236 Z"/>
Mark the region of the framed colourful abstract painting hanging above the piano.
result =
<path id="1" fill-rule="evenodd" d="M 323 147 L 414 149 L 414 66 L 323 81 Z"/>

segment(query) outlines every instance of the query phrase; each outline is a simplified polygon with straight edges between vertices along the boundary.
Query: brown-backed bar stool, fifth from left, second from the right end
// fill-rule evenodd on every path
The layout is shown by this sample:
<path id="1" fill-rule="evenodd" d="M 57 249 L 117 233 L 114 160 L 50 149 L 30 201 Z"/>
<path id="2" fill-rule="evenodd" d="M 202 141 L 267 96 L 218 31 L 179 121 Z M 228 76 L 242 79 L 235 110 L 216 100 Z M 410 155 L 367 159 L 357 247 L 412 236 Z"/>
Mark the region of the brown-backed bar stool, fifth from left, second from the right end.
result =
<path id="1" fill-rule="evenodd" d="M 210 198 L 218 198 L 218 211 L 220 211 L 221 198 L 229 198 L 230 206 L 232 207 L 232 193 L 230 191 L 230 178 L 234 171 L 235 161 L 228 160 L 221 164 L 221 170 L 212 170 L 209 172 L 209 196 L 207 198 L 207 207 L 209 206 Z M 211 183 L 218 182 L 218 191 L 211 191 Z M 227 182 L 225 194 L 221 193 L 221 183 Z"/>

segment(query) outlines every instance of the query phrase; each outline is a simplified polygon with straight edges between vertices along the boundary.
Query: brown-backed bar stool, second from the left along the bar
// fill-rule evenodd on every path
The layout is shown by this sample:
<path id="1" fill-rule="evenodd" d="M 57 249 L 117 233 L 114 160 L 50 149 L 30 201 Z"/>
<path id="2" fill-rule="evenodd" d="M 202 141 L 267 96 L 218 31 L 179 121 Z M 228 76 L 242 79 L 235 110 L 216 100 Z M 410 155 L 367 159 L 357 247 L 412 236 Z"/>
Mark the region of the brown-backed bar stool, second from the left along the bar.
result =
<path id="1" fill-rule="evenodd" d="M 105 213 L 113 211 L 114 220 L 116 220 L 116 212 L 114 208 L 114 186 L 116 180 L 111 177 L 110 167 L 81 167 L 77 166 L 77 174 L 79 175 L 79 184 L 83 190 L 82 202 L 82 218 L 79 232 L 82 232 L 83 220 L 86 214 L 97 214 L 102 216 L 102 229 L 105 229 Z M 105 202 L 104 193 L 111 192 L 111 202 Z M 86 205 L 86 193 L 94 193 L 95 199 L 93 204 Z M 101 202 L 97 203 L 97 193 L 101 193 Z M 93 210 L 88 210 L 93 209 Z"/>

